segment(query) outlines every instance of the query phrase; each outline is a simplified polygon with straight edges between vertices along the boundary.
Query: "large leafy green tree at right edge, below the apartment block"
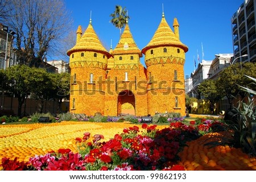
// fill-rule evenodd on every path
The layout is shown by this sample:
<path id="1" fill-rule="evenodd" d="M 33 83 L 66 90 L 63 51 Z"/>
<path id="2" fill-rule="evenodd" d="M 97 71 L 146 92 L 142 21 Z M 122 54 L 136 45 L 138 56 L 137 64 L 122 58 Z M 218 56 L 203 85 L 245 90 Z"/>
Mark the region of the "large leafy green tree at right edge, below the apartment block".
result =
<path id="1" fill-rule="evenodd" d="M 256 77 L 256 64 L 236 63 L 220 73 L 220 77 L 217 80 L 218 92 L 228 98 L 230 107 L 232 107 L 234 97 L 240 96 L 244 98 L 246 96 L 246 92 L 239 89 L 238 85 L 245 85 L 248 88 L 255 86 L 251 84 L 251 80 L 245 75 Z"/>

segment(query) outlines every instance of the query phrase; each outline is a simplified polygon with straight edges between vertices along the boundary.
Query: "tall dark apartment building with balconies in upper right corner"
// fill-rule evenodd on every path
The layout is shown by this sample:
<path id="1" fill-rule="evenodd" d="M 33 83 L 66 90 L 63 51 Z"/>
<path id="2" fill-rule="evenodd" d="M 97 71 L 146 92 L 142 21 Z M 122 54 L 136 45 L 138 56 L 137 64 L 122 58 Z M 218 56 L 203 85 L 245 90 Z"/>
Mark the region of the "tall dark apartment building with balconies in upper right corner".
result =
<path id="1" fill-rule="evenodd" d="M 245 0 L 233 14 L 232 36 L 234 59 L 240 62 L 256 61 L 256 1 Z M 245 56 L 247 55 L 247 56 Z"/>

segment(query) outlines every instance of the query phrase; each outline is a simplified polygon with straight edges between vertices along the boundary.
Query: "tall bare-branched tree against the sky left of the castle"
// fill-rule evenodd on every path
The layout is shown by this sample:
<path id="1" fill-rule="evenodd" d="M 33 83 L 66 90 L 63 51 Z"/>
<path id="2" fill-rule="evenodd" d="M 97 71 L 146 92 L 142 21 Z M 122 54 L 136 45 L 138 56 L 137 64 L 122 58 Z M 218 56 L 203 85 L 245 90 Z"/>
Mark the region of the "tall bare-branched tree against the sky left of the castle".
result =
<path id="1" fill-rule="evenodd" d="M 8 5 L 8 6 L 7 6 Z M 61 38 L 70 29 L 69 11 L 63 0 L 16 0 L 4 23 L 16 32 L 16 54 L 21 64 L 39 67 L 46 55 L 58 52 Z"/>

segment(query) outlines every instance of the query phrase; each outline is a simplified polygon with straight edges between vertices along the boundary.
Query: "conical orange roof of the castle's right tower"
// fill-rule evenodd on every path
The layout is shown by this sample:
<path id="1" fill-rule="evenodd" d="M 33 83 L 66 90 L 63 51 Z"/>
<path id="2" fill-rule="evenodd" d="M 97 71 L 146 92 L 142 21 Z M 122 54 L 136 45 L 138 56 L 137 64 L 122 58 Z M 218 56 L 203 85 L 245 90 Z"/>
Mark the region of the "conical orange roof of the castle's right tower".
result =
<path id="1" fill-rule="evenodd" d="M 166 22 L 164 15 L 162 16 L 162 20 L 158 26 L 158 29 L 155 31 L 153 38 L 150 40 L 147 46 L 142 49 L 142 53 L 145 54 L 148 49 L 159 46 L 174 46 L 184 49 L 185 52 L 188 51 L 188 47 L 181 43 L 180 40 L 175 36 L 174 32 Z"/>

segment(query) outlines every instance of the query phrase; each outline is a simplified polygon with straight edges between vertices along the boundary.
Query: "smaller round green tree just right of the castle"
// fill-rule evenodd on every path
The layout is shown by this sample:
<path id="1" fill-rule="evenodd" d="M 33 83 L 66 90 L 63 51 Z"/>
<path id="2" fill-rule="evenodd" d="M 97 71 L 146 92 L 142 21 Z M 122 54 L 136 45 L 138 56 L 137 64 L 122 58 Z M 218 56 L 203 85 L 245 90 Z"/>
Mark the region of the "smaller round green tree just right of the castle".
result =
<path id="1" fill-rule="evenodd" d="M 213 111 L 212 108 L 216 102 L 219 101 L 222 97 L 216 84 L 216 80 L 207 79 L 201 82 L 201 84 L 198 86 L 199 93 L 203 94 L 203 96 L 209 100 L 211 111 Z"/>

